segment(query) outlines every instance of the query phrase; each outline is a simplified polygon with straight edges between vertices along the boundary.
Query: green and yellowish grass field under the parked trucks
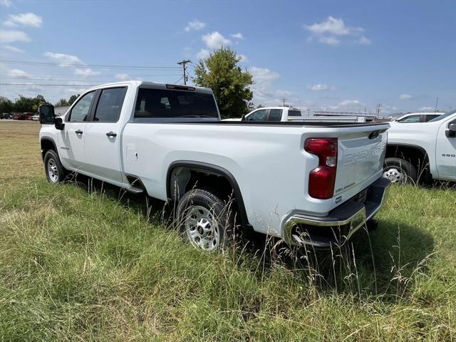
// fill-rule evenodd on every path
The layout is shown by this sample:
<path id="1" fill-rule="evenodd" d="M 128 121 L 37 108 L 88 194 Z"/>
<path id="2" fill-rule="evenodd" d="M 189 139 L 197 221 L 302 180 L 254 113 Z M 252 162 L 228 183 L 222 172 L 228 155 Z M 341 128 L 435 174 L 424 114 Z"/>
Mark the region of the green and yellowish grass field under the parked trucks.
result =
<path id="1" fill-rule="evenodd" d="M 205 254 L 160 204 L 46 182 L 0 121 L 0 341 L 454 341 L 456 190 L 393 187 L 343 250 Z"/>

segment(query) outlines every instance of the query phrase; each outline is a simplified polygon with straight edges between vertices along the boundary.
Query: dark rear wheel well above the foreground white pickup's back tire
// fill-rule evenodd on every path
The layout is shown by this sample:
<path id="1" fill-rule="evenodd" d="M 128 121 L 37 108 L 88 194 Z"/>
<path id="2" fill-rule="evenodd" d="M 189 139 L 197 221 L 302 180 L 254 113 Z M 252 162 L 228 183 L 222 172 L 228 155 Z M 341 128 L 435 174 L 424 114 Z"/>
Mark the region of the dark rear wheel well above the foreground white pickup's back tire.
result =
<path id="1" fill-rule="evenodd" d="M 168 198 L 178 200 L 185 192 L 194 188 L 208 190 L 226 201 L 233 199 L 242 226 L 244 229 L 252 229 L 239 186 L 230 172 L 222 167 L 205 163 L 175 162 L 170 165 L 167 172 Z"/>

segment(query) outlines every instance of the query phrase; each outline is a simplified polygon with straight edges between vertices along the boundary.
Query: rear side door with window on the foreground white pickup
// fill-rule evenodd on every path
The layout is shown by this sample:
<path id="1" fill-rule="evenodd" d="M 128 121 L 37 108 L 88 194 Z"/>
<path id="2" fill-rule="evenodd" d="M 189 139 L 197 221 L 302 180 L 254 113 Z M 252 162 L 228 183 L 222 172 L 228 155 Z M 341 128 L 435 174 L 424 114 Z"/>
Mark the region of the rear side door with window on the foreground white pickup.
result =
<path id="1" fill-rule="evenodd" d="M 127 87 L 97 91 L 90 122 L 84 131 L 84 152 L 88 172 L 107 180 L 122 182 L 120 130 Z"/>

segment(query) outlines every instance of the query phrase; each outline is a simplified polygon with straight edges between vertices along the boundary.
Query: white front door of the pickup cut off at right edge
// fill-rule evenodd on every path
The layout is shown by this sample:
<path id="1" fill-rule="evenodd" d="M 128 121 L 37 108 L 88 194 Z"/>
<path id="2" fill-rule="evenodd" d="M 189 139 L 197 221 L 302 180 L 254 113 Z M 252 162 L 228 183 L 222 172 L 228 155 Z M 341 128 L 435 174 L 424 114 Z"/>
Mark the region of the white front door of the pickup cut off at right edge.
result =
<path id="1" fill-rule="evenodd" d="M 446 130 L 450 123 L 456 123 L 456 121 L 447 121 L 440 125 L 437 133 L 435 160 L 437 162 L 439 178 L 456 180 L 456 138 L 447 137 L 446 135 Z"/>

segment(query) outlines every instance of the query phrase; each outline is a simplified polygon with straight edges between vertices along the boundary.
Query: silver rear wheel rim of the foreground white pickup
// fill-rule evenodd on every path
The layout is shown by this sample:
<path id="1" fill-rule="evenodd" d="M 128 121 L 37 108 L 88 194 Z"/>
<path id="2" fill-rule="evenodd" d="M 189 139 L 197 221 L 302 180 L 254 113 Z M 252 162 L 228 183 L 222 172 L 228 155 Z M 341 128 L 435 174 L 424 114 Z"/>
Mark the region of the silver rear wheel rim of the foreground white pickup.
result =
<path id="1" fill-rule="evenodd" d="M 207 251 L 219 247 L 217 220 L 207 208 L 200 205 L 188 207 L 184 226 L 185 234 L 192 246 Z"/>

